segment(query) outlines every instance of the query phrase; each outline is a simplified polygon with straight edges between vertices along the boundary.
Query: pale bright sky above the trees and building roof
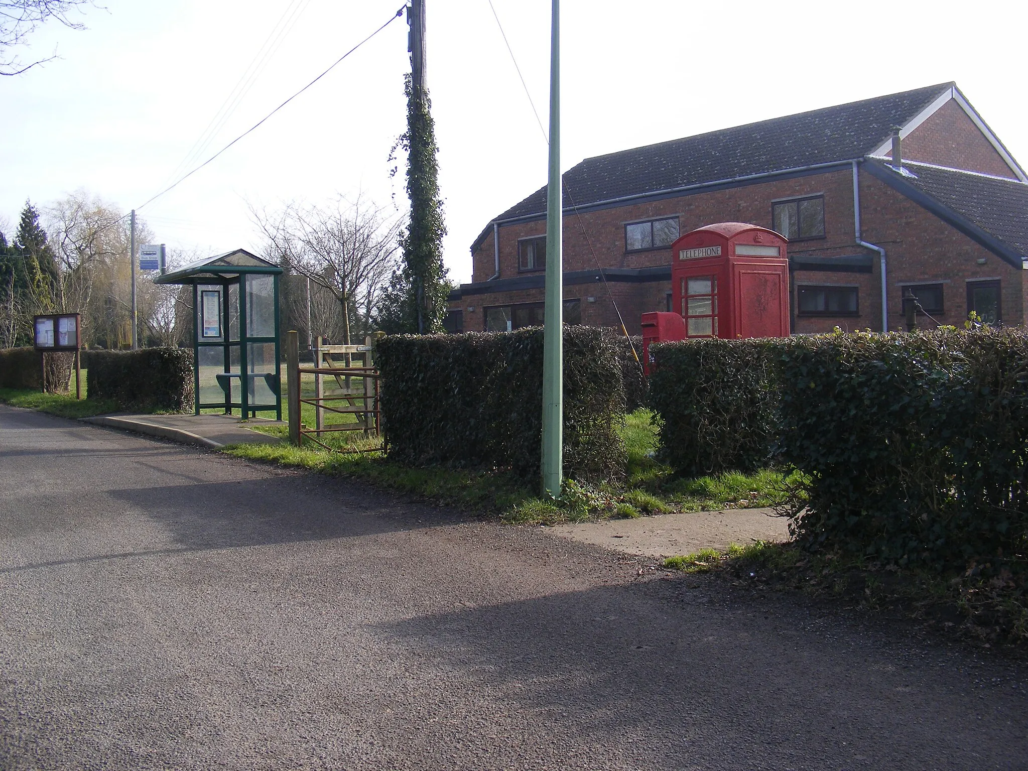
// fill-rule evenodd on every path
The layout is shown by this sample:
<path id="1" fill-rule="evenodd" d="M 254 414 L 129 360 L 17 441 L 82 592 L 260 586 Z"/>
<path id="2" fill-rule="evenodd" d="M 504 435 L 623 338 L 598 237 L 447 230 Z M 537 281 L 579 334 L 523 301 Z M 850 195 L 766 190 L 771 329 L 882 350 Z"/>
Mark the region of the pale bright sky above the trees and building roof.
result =
<path id="1" fill-rule="evenodd" d="M 390 155 L 405 130 L 405 19 L 143 206 L 401 2 L 98 0 L 75 16 L 85 30 L 39 29 L 22 59 L 54 50 L 59 59 L 0 78 L 0 229 L 9 235 L 27 199 L 45 207 L 80 189 L 122 211 L 139 209 L 171 250 L 212 255 L 261 251 L 253 209 L 360 194 L 401 216 L 403 169 L 391 176 Z M 546 124 L 551 5 L 491 2 Z M 479 231 L 545 184 L 547 146 L 489 1 L 426 6 L 444 258 L 450 277 L 467 282 Z M 560 19 L 563 170 L 585 157 L 950 80 L 1028 163 L 1020 42 L 1028 3 L 564 0 Z M 226 103 L 245 75 L 248 87 Z M 227 119 L 195 152 L 226 104 Z"/>

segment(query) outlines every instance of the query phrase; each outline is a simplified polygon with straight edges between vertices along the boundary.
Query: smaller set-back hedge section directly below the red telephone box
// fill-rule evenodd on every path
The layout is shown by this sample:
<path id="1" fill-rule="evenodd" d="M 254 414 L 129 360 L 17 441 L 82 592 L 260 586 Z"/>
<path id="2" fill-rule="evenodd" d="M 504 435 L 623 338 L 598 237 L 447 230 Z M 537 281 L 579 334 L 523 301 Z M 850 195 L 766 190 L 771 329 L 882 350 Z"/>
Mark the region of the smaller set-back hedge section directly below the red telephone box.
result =
<path id="1" fill-rule="evenodd" d="M 774 355 L 787 340 L 702 339 L 654 345 L 648 403 L 658 457 L 678 474 L 754 471 L 777 436 Z"/>

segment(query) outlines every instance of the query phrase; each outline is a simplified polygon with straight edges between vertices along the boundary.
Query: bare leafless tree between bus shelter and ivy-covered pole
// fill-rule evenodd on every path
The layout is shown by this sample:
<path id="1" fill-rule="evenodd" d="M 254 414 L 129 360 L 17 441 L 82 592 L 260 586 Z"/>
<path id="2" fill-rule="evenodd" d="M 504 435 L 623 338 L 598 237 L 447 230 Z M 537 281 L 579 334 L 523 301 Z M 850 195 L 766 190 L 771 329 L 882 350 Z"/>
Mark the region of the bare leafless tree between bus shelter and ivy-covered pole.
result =
<path id="1" fill-rule="evenodd" d="M 250 208 L 267 240 L 266 257 L 330 293 L 340 309 L 342 336 L 351 342 L 351 314 L 358 332 L 370 331 L 371 313 L 397 264 L 402 222 L 358 194 L 323 206 L 288 204 L 281 211 Z M 315 292 L 311 301 L 316 302 Z"/>

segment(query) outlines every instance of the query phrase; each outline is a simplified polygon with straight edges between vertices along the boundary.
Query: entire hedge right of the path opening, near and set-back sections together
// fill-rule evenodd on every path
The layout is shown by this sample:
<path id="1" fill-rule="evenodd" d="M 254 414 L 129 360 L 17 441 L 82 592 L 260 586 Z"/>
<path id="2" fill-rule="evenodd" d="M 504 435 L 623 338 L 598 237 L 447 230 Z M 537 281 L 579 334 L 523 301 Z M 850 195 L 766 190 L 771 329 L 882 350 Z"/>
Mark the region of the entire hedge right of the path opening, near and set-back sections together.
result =
<path id="1" fill-rule="evenodd" d="M 703 340 L 653 348 L 680 473 L 804 472 L 811 548 L 935 570 L 1028 570 L 1028 332 Z"/>

